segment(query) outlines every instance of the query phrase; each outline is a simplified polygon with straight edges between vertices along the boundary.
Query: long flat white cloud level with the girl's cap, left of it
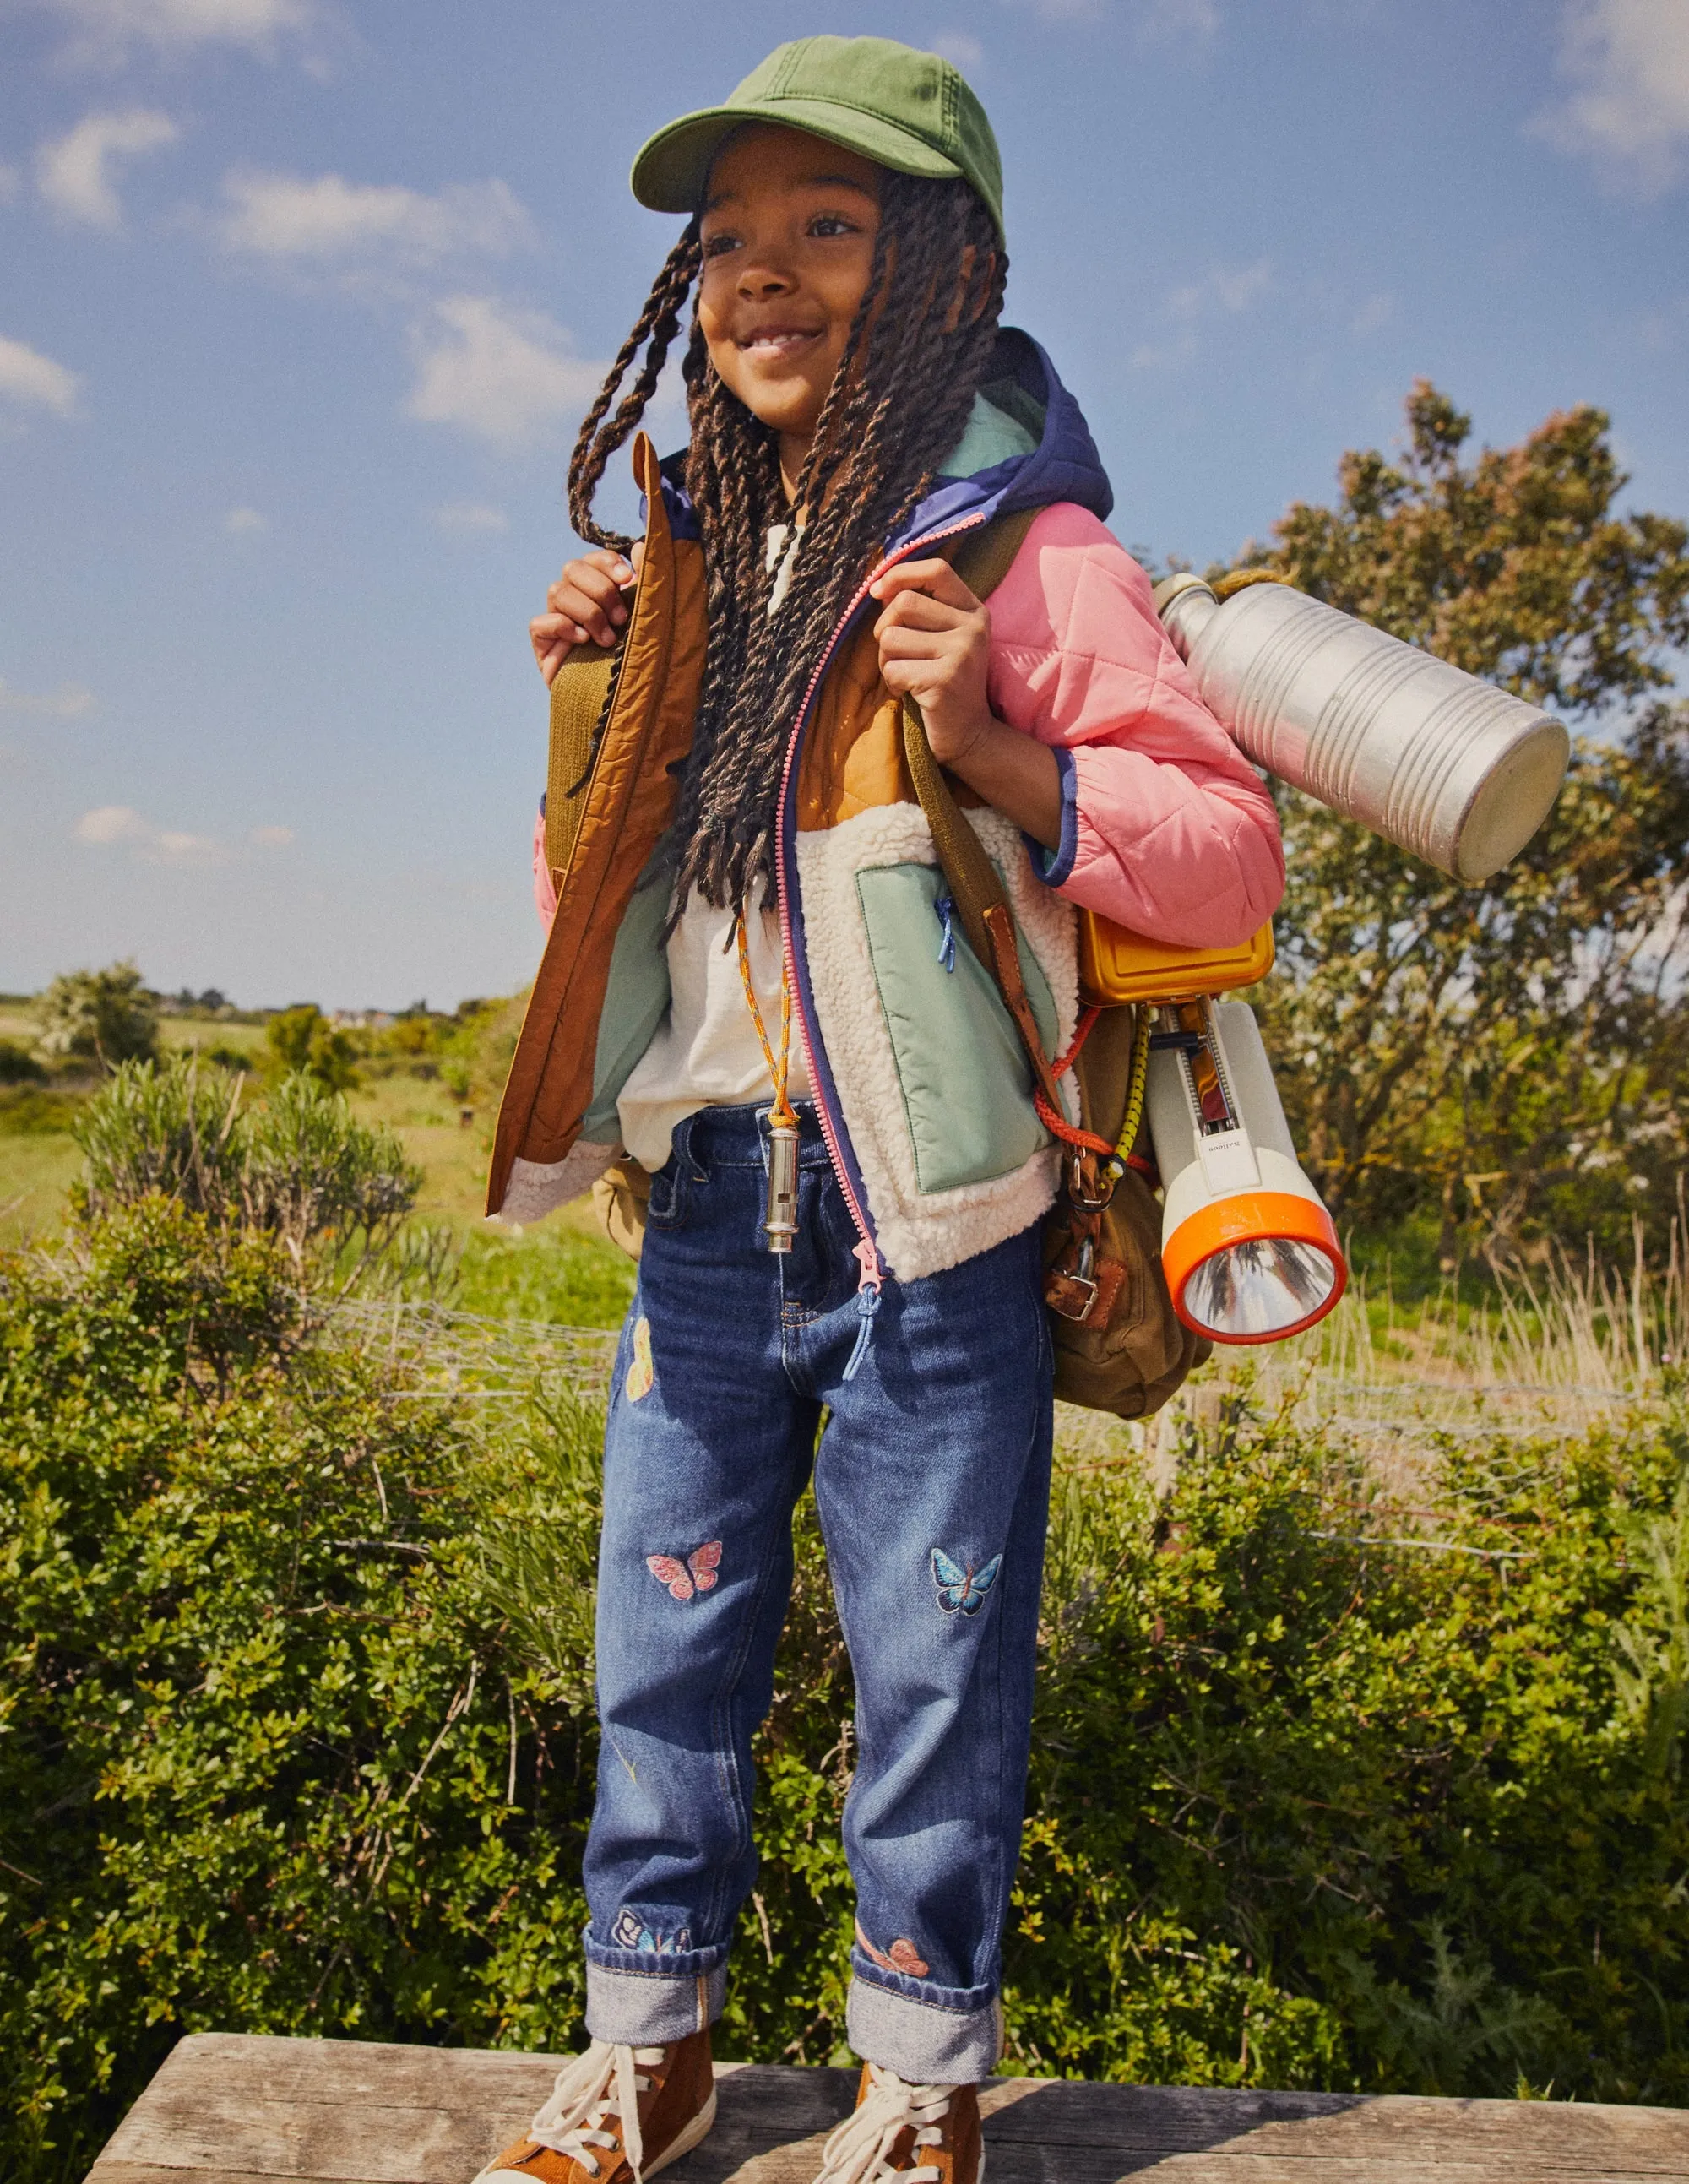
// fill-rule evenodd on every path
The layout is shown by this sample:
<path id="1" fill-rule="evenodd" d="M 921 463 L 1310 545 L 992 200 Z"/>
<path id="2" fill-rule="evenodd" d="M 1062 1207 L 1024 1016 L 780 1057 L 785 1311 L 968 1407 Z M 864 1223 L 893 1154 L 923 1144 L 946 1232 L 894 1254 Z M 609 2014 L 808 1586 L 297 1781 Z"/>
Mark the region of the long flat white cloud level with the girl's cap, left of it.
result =
<path id="1" fill-rule="evenodd" d="M 505 258 L 533 236 L 527 207 L 498 179 L 448 183 L 428 197 L 341 175 L 232 173 L 223 197 L 223 247 L 271 264 L 417 271 L 454 258 Z"/>

